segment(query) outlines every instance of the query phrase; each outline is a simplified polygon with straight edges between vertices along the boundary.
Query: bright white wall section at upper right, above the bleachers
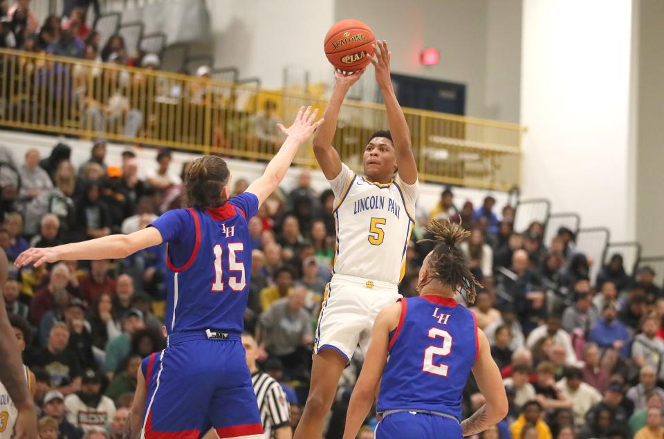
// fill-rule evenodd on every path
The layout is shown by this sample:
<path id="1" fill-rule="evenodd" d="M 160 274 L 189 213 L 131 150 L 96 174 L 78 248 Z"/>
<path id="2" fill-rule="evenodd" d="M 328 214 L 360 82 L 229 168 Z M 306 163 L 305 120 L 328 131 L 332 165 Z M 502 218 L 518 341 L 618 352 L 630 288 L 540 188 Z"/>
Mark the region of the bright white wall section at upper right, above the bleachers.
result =
<path id="1" fill-rule="evenodd" d="M 634 238 L 631 1 L 524 0 L 523 196 Z"/>

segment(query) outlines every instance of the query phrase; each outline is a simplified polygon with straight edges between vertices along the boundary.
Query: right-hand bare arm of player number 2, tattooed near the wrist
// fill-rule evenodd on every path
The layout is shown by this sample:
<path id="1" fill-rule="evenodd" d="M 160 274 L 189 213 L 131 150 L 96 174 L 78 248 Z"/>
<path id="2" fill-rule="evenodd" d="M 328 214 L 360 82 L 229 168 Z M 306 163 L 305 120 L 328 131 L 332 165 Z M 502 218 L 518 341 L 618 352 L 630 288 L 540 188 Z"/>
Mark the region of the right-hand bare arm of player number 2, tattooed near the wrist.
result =
<path id="1" fill-rule="evenodd" d="M 479 353 L 472 366 L 472 375 L 477 381 L 479 391 L 486 398 L 486 403 L 470 418 L 461 422 L 463 436 L 481 433 L 505 418 L 508 411 L 503 380 L 496 362 L 491 357 L 489 341 L 481 329 L 477 330 L 477 337 L 479 338 Z"/>

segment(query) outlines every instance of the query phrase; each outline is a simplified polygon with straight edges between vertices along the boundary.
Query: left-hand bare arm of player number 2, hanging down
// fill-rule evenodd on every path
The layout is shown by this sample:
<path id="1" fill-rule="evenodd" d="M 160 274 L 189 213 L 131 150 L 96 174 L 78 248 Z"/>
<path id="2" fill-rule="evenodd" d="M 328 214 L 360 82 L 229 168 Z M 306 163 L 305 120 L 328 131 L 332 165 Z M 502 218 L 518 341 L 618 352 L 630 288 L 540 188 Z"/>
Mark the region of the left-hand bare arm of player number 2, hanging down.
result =
<path id="1" fill-rule="evenodd" d="M 349 402 L 343 439 L 354 439 L 357 436 L 362 422 L 367 418 L 367 414 L 374 404 L 376 389 L 378 389 L 382 371 L 387 363 L 389 332 L 398 325 L 400 315 L 401 305 L 395 303 L 380 311 L 376 317 L 369 350 L 365 355 L 365 364 L 362 365 L 362 372 L 353 388 Z"/>

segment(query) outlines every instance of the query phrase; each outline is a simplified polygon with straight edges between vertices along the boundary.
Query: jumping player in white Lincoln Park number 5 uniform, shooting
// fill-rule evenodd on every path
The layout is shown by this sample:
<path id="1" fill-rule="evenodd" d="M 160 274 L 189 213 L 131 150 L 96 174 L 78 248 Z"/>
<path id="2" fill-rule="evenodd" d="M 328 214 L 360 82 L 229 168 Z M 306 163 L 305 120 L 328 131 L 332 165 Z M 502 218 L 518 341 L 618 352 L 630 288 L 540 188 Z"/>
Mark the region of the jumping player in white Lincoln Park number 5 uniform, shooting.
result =
<path id="1" fill-rule="evenodd" d="M 313 149 L 335 195 L 337 252 L 315 334 L 311 389 L 294 439 L 322 436 L 322 424 L 337 383 L 353 351 L 366 351 L 378 312 L 399 297 L 407 243 L 418 197 L 417 166 L 410 132 L 389 76 L 385 41 L 377 41 L 372 64 L 387 109 L 391 131 L 371 136 L 364 176 L 344 165 L 331 146 L 344 97 L 364 70 L 335 72 L 335 87 Z M 396 171 L 398 169 L 398 175 Z"/>

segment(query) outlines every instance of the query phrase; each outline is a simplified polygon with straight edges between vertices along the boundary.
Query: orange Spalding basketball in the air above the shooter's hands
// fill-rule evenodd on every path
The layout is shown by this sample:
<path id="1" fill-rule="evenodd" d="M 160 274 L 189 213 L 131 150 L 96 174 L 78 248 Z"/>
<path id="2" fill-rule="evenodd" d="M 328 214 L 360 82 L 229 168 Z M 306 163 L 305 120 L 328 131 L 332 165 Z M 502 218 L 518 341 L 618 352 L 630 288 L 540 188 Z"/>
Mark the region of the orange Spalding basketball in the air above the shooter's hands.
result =
<path id="1" fill-rule="evenodd" d="M 365 68 L 374 56 L 374 32 L 360 20 L 336 22 L 325 35 L 325 55 L 335 68 L 354 72 Z"/>

